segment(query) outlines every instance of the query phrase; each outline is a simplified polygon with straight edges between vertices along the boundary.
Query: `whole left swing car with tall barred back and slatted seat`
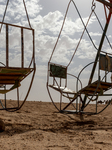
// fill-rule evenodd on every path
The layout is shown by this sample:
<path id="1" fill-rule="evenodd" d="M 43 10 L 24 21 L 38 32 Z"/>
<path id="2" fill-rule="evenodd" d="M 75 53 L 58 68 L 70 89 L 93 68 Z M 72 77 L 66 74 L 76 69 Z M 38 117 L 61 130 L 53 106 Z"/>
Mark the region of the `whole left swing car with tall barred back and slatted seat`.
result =
<path id="1" fill-rule="evenodd" d="M 0 94 L 4 94 L 4 100 L 0 100 L 0 104 L 1 104 L 0 110 L 7 110 L 7 111 L 12 112 L 12 111 L 19 110 L 25 103 L 25 101 L 29 95 L 29 92 L 31 90 L 31 87 L 32 87 L 36 66 L 35 66 L 35 55 L 34 55 L 35 54 L 34 29 L 31 28 L 25 2 L 23 0 L 27 19 L 28 19 L 30 27 L 24 27 L 24 26 L 19 26 L 19 25 L 14 25 L 14 24 L 4 22 L 8 3 L 9 3 L 9 0 L 7 1 L 7 4 L 6 4 L 6 9 L 4 12 L 3 20 L 2 20 L 2 22 L 0 22 L 0 24 L 1 24 L 0 32 L 2 32 L 2 26 L 4 26 L 5 37 L 6 37 L 6 44 L 5 44 L 6 64 L 4 64 L 3 62 L 0 62 Z M 10 61 L 10 59 L 9 59 L 9 39 L 10 39 L 9 30 L 10 30 L 10 27 L 12 29 L 20 30 L 20 35 L 21 35 L 20 36 L 20 38 L 21 38 L 20 64 L 21 64 L 21 66 L 19 66 L 19 67 L 14 67 L 14 66 L 12 67 L 9 65 L 9 61 Z M 31 37 L 32 38 L 32 57 L 31 57 L 31 60 L 29 61 L 30 63 L 29 63 L 28 67 L 25 67 L 25 64 L 24 64 L 25 63 L 24 62 L 24 56 L 25 56 L 24 55 L 24 46 L 25 46 L 24 31 L 25 32 L 30 31 L 32 34 L 32 37 Z M 21 86 L 21 82 L 31 73 L 32 73 L 32 77 L 31 77 L 28 91 L 26 93 L 24 100 L 22 102 L 20 102 L 19 87 Z M 14 106 L 9 106 L 8 105 L 9 101 L 6 98 L 6 94 L 14 89 L 17 89 L 17 100 L 15 100 L 15 101 L 17 101 L 17 103 L 14 104 Z"/>

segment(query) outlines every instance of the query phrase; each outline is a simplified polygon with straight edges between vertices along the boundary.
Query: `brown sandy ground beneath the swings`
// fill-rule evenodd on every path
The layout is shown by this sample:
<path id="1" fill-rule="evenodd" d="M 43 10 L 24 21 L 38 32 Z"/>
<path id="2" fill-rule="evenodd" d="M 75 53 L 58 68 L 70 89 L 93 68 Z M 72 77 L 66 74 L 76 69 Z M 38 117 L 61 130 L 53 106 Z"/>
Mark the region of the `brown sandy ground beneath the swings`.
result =
<path id="1" fill-rule="evenodd" d="M 5 123 L 0 149 L 112 150 L 111 110 L 112 105 L 81 121 L 78 115 L 58 113 L 50 102 L 27 101 L 17 112 L 0 111 Z"/>

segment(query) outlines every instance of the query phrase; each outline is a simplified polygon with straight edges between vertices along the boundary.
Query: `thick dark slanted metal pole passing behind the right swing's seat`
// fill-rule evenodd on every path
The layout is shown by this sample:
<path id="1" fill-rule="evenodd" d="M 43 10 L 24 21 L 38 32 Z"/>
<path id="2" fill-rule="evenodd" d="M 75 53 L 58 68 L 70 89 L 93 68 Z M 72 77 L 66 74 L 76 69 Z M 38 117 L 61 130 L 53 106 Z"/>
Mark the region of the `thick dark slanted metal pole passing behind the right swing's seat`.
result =
<path id="1" fill-rule="evenodd" d="M 89 79 L 88 85 L 91 84 L 93 76 L 94 76 L 94 73 L 95 73 L 95 69 L 96 69 L 96 65 L 97 65 L 97 62 L 98 62 L 98 58 L 99 58 L 99 55 L 100 55 L 100 52 L 101 52 L 101 49 L 102 49 L 102 45 L 103 45 L 103 42 L 104 42 L 104 39 L 105 39 L 105 35 L 106 35 L 106 32 L 107 32 L 107 28 L 108 28 L 109 22 L 110 22 L 110 19 L 111 19 L 111 13 L 112 12 L 110 10 L 108 18 L 107 18 L 106 25 L 105 25 L 105 28 L 104 28 L 104 32 L 102 34 L 102 38 L 101 38 L 101 41 L 100 41 L 100 45 L 99 45 L 99 48 L 98 48 L 98 52 L 97 52 L 97 55 L 96 55 L 96 58 L 95 58 L 95 63 L 93 65 L 93 69 L 92 69 L 92 72 L 91 72 L 91 75 L 90 75 L 90 79 Z M 87 99 L 87 96 L 85 95 L 84 96 L 84 101 L 83 101 L 83 104 L 82 104 L 82 108 L 81 108 L 82 110 L 84 109 L 84 106 L 85 106 L 85 103 L 86 103 L 86 99 Z"/>

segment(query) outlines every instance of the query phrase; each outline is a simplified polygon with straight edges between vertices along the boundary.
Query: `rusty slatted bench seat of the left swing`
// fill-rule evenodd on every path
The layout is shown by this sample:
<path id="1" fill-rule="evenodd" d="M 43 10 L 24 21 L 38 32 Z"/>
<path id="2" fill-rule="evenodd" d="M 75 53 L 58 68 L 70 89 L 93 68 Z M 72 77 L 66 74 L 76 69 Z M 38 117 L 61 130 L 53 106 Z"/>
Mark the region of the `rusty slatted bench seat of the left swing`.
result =
<path id="1" fill-rule="evenodd" d="M 17 68 L 17 67 L 0 67 L 0 85 L 12 85 L 9 89 L 0 90 L 1 94 L 5 94 L 20 86 L 20 82 L 27 77 L 33 69 Z"/>

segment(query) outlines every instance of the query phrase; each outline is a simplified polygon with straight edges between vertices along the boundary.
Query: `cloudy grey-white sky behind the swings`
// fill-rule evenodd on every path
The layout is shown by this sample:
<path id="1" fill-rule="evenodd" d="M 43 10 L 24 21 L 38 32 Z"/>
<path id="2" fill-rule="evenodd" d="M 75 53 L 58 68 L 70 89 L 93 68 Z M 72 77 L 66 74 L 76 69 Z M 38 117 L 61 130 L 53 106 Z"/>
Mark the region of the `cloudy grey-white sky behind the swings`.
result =
<path id="1" fill-rule="evenodd" d="M 6 0 L 0 0 L 0 21 L 2 21 Z M 104 28 L 105 25 L 105 13 L 103 5 L 97 1 L 94 1 L 96 4 L 95 12 L 98 15 L 101 24 Z M 30 23 L 33 29 L 35 29 L 35 60 L 36 60 L 36 74 L 33 82 L 32 89 L 28 96 L 28 100 L 33 101 L 50 101 L 48 92 L 46 89 L 47 82 L 47 65 L 50 59 L 52 50 L 56 43 L 58 34 L 60 32 L 64 15 L 67 9 L 69 0 L 25 0 L 26 8 L 28 11 Z M 75 4 L 82 16 L 84 23 L 87 22 L 88 16 L 91 13 L 92 0 L 75 0 Z M 107 10 L 108 12 L 108 10 Z M 22 0 L 9 0 L 9 5 L 7 8 L 7 13 L 4 19 L 4 22 L 22 25 L 28 27 L 28 21 L 25 14 L 25 9 Z M 108 38 L 112 41 L 111 36 L 111 22 L 107 32 Z M 87 26 L 88 32 L 98 48 L 102 29 L 96 19 L 95 15 L 92 14 L 90 21 Z M 79 18 L 79 15 L 73 5 L 70 4 L 69 11 L 66 17 L 66 21 L 57 43 L 55 52 L 51 62 L 58 63 L 61 65 L 67 65 L 70 62 L 70 59 L 77 47 L 79 39 L 82 35 L 84 27 Z M 10 65 L 18 66 L 20 63 L 20 40 L 19 40 L 19 30 L 11 30 L 10 36 Z M 5 32 L 4 27 L 0 33 L 0 61 L 5 63 Z M 31 33 L 25 33 L 26 49 L 25 49 L 25 65 L 29 64 L 32 54 L 32 42 L 31 42 Z M 111 52 L 111 49 L 107 43 L 104 42 L 103 46 L 104 51 Z M 70 66 L 68 67 L 68 72 L 73 75 L 78 75 L 80 70 L 90 62 L 93 62 L 96 56 L 97 50 L 91 43 L 87 33 L 85 32 L 81 43 L 77 49 L 76 55 L 74 56 Z M 81 74 L 81 81 L 83 86 L 87 85 L 88 79 L 91 73 L 92 66 L 88 67 Z M 97 70 L 96 70 L 97 73 Z M 95 79 L 97 75 L 95 76 Z M 28 76 L 22 83 L 20 87 L 20 99 L 23 99 L 31 76 Z M 69 79 L 70 88 L 75 90 L 75 81 L 74 79 Z M 55 92 L 52 91 L 54 96 Z M 2 97 L 2 96 L 1 96 Z M 15 91 L 12 91 L 7 94 L 9 99 L 15 98 Z"/>

